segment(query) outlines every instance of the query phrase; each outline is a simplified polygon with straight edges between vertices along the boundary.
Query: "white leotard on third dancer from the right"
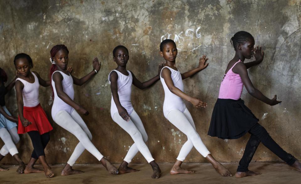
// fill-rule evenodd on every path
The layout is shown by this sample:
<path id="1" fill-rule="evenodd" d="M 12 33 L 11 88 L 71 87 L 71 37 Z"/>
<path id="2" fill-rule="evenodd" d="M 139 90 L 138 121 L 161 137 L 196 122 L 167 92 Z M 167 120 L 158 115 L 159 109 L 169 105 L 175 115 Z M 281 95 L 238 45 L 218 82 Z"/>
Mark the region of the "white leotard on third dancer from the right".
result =
<path id="1" fill-rule="evenodd" d="M 117 87 L 118 87 L 118 95 L 119 95 L 120 104 L 121 104 L 121 106 L 123 106 L 126 109 L 128 114 L 131 115 L 131 113 L 133 111 L 133 106 L 132 106 L 132 102 L 131 102 L 132 83 L 133 83 L 132 73 L 129 70 L 127 70 L 129 75 L 126 76 L 117 70 L 112 70 L 112 71 L 115 71 L 118 74 Z M 110 81 L 111 72 L 109 73 L 109 76 L 108 76 L 110 84 L 111 84 L 111 81 Z M 118 110 L 117 110 L 117 107 L 116 107 L 116 104 L 114 102 L 113 95 L 112 95 L 112 100 L 111 100 L 111 117 L 112 118 L 114 117 L 114 114 L 116 112 L 118 112 Z"/>

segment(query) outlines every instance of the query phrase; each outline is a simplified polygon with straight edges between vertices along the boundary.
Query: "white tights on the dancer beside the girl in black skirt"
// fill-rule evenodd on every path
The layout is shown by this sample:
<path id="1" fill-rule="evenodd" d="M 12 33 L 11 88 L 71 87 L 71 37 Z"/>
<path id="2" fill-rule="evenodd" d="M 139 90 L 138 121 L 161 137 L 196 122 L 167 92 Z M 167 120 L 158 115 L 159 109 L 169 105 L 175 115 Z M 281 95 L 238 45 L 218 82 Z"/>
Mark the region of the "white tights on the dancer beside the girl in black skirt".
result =
<path id="1" fill-rule="evenodd" d="M 202 139 L 198 135 L 192 116 L 187 109 L 185 109 L 184 113 L 174 109 L 167 114 L 167 119 L 182 133 L 184 133 L 188 139 L 183 144 L 177 160 L 184 161 L 193 146 L 201 155 L 203 155 L 203 157 L 207 157 L 207 155 L 210 154 L 205 144 L 202 142 Z"/>

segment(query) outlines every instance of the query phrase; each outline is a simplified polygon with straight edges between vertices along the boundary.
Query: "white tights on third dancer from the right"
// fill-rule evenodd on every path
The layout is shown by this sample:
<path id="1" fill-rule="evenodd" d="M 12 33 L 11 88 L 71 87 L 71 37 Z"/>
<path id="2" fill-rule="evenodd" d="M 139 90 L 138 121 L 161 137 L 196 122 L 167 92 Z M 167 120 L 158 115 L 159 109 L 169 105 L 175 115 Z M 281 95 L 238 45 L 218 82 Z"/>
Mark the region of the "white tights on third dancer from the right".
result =
<path id="1" fill-rule="evenodd" d="M 124 119 L 119 116 L 118 112 L 114 114 L 113 121 L 124 129 L 134 140 L 134 144 L 130 147 L 124 161 L 130 163 L 138 151 L 140 151 L 148 163 L 154 160 L 150 154 L 150 150 L 145 144 L 147 141 L 147 134 L 142 121 L 135 110 L 131 113 L 129 122 L 124 121 Z"/>

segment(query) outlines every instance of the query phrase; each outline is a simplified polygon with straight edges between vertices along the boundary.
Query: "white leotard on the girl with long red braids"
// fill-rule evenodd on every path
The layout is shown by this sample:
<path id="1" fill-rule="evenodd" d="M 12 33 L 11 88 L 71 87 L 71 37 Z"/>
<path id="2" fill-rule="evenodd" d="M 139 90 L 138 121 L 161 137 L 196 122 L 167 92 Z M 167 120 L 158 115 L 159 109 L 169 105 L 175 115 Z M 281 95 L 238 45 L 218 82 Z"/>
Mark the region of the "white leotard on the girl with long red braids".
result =
<path id="1" fill-rule="evenodd" d="M 61 75 L 63 76 L 63 80 L 62 80 L 63 91 L 71 98 L 71 100 L 74 100 L 73 79 L 72 79 L 71 74 L 69 73 L 69 75 L 66 75 L 64 72 L 61 72 L 58 70 L 55 72 L 61 73 Z M 52 76 L 54 73 L 52 73 Z M 51 76 L 51 85 L 52 85 L 53 92 L 54 92 L 54 100 L 53 100 L 53 105 L 51 108 L 51 116 L 52 116 L 52 119 L 55 121 L 55 115 L 59 111 L 65 110 L 66 112 L 68 112 L 68 114 L 71 114 L 71 112 L 74 110 L 74 108 L 71 107 L 70 105 L 66 104 L 66 102 L 64 102 L 60 97 L 58 97 L 58 95 L 56 93 L 56 89 L 55 89 L 55 83 L 52 80 L 52 76 Z"/>

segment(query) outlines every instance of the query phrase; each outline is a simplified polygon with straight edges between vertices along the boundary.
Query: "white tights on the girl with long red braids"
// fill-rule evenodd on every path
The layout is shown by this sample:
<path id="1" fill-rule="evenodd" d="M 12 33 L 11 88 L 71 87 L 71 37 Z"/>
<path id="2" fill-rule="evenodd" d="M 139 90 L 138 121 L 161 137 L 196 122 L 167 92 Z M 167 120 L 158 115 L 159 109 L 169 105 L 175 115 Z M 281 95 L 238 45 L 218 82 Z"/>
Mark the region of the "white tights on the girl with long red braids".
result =
<path id="1" fill-rule="evenodd" d="M 74 165 L 75 161 L 81 156 L 85 149 L 96 157 L 97 160 L 100 161 L 103 158 L 103 155 L 91 142 L 92 134 L 77 111 L 73 110 L 71 114 L 66 111 L 59 111 L 55 115 L 55 122 L 72 133 L 79 140 L 67 164 L 70 166 Z"/>

